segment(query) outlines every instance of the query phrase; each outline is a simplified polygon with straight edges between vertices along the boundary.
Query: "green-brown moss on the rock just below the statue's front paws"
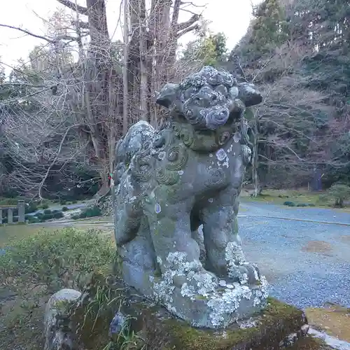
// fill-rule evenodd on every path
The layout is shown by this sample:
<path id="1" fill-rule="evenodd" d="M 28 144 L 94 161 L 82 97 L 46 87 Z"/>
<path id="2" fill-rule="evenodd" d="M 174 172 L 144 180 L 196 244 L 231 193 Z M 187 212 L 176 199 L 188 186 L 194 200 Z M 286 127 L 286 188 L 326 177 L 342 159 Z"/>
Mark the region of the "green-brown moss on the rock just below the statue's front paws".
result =
<path id="1" fill-rule="evenodd" d="M 272 298 L 269 298 L 266 309 L 255 319 L 255 327 L 238 328 L 236 325 L 223 331 L 202 330 L 175 319 L 165 320 L 162 332 L 168 341 L 167 347 L 163 349 L 273 349 L 284 337 L 300 330 L 305 323 L 301 310 Z M 159 337 L 160 333 L 154 336 Z"/>

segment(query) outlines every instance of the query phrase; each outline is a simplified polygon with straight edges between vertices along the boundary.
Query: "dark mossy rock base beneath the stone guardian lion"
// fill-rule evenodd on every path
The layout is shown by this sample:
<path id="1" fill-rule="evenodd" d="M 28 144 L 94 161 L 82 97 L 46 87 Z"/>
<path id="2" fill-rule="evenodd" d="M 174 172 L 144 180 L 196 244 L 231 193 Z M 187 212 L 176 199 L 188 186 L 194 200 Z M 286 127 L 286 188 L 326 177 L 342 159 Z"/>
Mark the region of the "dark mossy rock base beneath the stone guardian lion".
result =
<path id="1" fill-rule="evenodd" d="M 174 318 L 164 308 L 151 304 L 148 300 L 136 295 L 134 290 L 128 290 L 124 286 L 118 286 L 118 288 L 114 286 L 113 293 L 105 288 L 104 294 L 109 297 L 99 295 L 100 301 L 89 297 L 87 302 L 90 311 L 92 304 L 97 304 L 99 315 L 94 312 L 90 315 L 89 312 L 80 313 L 81 316 L 84 315 L 84 321 L 80 321 L 85 323 L 85 326 L 80 327 L 80 338 L 84 339 L 87 349 L 97 349 L 96 346 L 106 346 L 111 342 L 109 324 L 113 319 L 113 313 L 117 310 L 130 320 L 130 332 L 136 335 L 135 339 L 144 339 L 143 344 L 147 345 L 148 350 L 280 349 L 281 342 L 290 335 L 292 338 L 293 335 L 297 335 L 299 337 L 297 344 L 303 346 L 299 348 L 295 345 L 292 349 L 327 349 L 320 347 L 321 344 L 318 341 L 309 340 L 309 337 L 307 341 L 304 340 L 305 332 L 302 332 L 302 326 L 307 323 L 307 320 L 303 311 L 272 298 L 269 298 L 267 307 L 260 314 L 228 329 L 216 331 L 193 328 L 179 318 Z M 113 298 L 114 302 L 109 298 Z M 101 300 L 104 300 L 102 302 L 104 307 Z M 102 310 L 104 311 L 101 312 Z M 92 320 L 89 321 L 88 318 Z M 93 329 L 90 327 L 92 324 Z M 123 335 L 123 337 L 126 336 Z M 106 344 L 102 344 L 103 340 Z"/>

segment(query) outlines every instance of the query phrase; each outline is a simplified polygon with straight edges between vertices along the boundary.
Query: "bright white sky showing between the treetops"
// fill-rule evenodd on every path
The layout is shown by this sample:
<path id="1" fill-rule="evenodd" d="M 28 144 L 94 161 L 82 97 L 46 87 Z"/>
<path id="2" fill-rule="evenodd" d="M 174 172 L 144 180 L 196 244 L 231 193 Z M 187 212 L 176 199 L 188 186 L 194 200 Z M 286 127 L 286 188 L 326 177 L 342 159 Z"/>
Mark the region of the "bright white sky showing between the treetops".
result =
<path id="1" fill-rule="evenodd" d="M 185 0 L 187 1 L 187 0 Z M 188 2 L 190 2 L 189 0 Z M 75 2 L 73 0 L 73 2 Z M 192 8 L 196 13 L 202 13 L 211 23 L 209 29 L 218 32 L 223 31 L 228 38 L 228 48 L 233 48 L 241 36 L 246 32 L 251 19 L 251 3 L 259 0 L 193 0 L 197 8 Z M 78 4 L 85 6 L 85 0 L 78 0 Z M 205 6 L 205 7 L 202 7 Z M 50 17 L 56 8 L 61 5 L 56 0 L 10 0 L 1 5 L 0 24 L 12 25 L 27 29 L 35 34 L 45 34 L 44 20 Z M 121 29 L 118 27 L 120 1 L 106 0 L 107 20 L 109 33 L 113 38 L 120 38 Z M 190 13 L 183 12 L 181 22 L 187 20 Z M 186 34 L 181 43 L 193 39 L 191 34 Z M 43 41 L 28 36 L 13 29 L 0 27 L 0 61 L 13 66 L 20 59 L 27 59 L 29 52 L 35 45 Z"/>

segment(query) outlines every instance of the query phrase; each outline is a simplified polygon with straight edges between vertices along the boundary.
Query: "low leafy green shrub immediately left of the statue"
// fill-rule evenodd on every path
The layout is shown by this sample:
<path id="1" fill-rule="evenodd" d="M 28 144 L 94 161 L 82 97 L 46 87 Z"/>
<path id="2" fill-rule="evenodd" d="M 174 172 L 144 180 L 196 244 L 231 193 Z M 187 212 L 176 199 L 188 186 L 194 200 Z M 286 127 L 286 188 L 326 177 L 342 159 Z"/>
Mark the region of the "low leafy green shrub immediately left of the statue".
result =
<path id="1" fill-rule="evenodd" d="M 112 240 L 99 230 L 64 228 L 16 241 L 0 255 L 1 279 L 45 283 L 50 291 L 81 287 L 87 274 L 107 274 L 116 255 Z"/>

